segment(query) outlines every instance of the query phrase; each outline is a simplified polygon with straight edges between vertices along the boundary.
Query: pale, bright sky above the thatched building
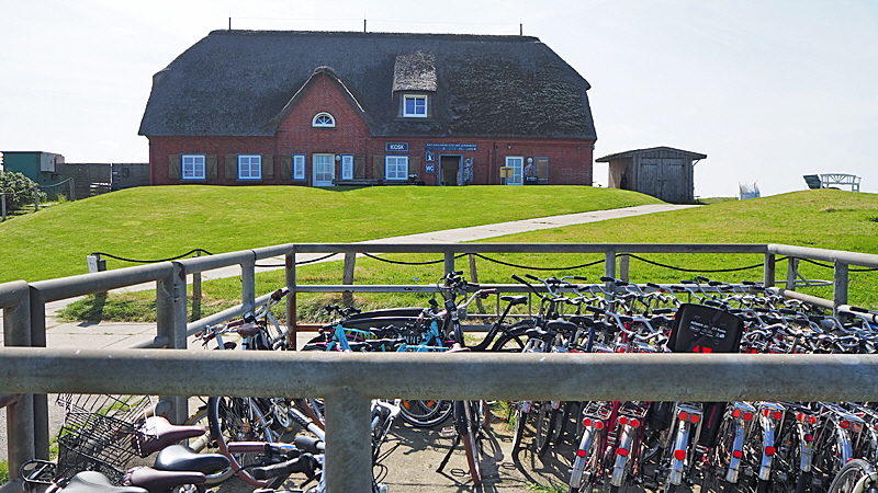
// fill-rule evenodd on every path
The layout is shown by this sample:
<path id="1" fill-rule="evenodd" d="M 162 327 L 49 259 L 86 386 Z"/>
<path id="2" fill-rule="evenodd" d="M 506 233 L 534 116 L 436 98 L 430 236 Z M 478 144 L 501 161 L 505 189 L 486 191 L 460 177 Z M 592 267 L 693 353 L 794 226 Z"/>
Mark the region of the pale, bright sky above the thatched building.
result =
<path id="1" fill-rule="evenodd" d="M 539 37 L 592 85 L 595 158 L 707 154 L 698 197 L 806 190 L 849 173 L 878 192 L 878 1 L 0 0 L 0 151 L 147 162 L 151 77 L 211 31 Z M 595 164 L 606 186 L 606 164 Z"/>

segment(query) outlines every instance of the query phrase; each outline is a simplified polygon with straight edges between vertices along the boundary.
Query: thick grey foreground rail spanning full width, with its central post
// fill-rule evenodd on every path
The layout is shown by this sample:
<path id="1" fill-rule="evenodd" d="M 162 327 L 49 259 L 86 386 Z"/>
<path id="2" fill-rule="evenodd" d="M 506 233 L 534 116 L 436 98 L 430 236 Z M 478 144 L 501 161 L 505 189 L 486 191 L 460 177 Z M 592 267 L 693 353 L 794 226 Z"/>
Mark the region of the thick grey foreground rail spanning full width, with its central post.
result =
<path id="1" fill-rule="evenodd" d="M 472 378 L 475 375 L 479 378 Z M 372 481 L 371 399 L 874 401 L 878 359 L 868 355 L 4 351 L 0 392 L 34 391 L 323 397 L 328 420 L 327 489 L 361 493 L 370 491 Z"/>

